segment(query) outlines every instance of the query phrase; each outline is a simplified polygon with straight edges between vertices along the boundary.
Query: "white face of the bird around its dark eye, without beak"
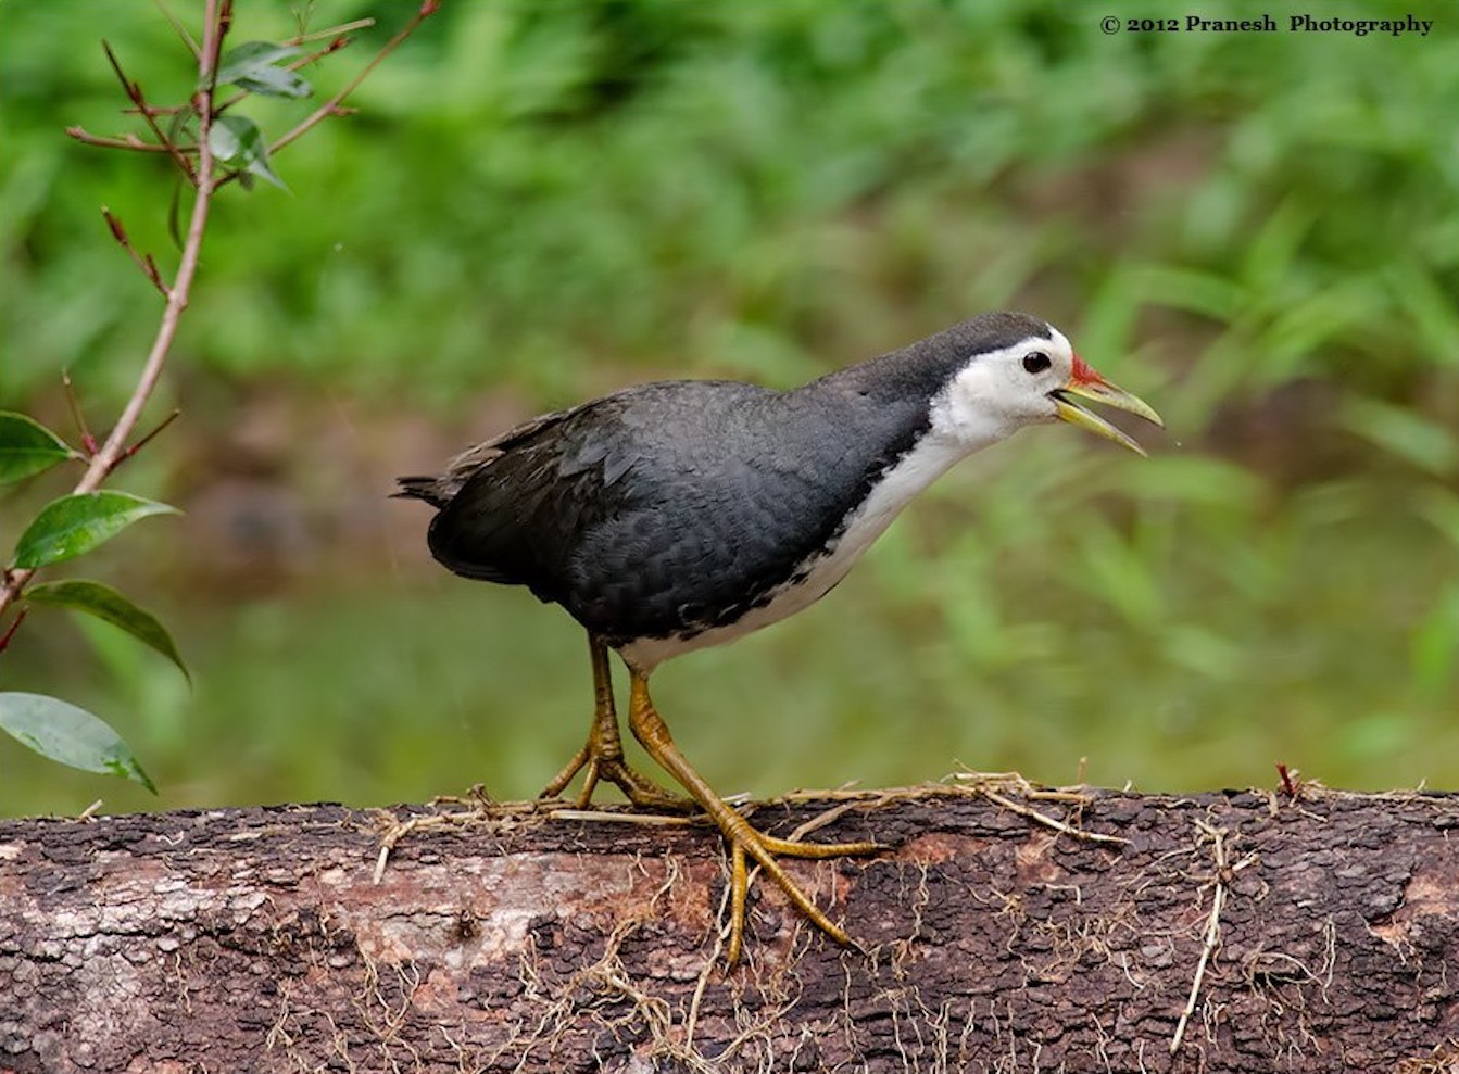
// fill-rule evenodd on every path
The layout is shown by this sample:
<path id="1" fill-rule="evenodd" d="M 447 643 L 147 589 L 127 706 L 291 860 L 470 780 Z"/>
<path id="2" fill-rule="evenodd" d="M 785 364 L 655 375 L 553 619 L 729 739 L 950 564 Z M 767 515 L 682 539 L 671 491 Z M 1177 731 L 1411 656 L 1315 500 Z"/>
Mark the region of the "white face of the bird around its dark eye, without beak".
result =
<path id="1" fill-rule="evenodd" d="M 1074 347 L 1058 328 L 979 355 L 932 400 L 932 432 L 978 449 L 1026 425 L 1053 422 L 1049 394 L 1069 382 Z"/>

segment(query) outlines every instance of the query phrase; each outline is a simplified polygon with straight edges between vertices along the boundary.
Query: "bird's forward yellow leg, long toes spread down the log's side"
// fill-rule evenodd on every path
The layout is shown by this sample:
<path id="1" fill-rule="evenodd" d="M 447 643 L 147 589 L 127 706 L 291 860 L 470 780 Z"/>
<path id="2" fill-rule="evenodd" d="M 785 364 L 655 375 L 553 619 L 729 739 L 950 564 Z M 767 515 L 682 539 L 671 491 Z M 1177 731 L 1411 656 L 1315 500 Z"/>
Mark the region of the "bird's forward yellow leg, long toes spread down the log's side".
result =
<path id="1" fill-rule="evenodd" d="M 821 913 L 816 903 L 795 886 L 795 881 L 781 868 L 775 855 L 782 854 L 789 858 L 839 858 L 846 854 L 875 854 L 883 848 L 870 842 L 800 843 L 756 832 L 744 817 L 730 808 L 724 798 L 709 788 L 703 776 L 694 770 L 693 765 L 674 746 L 674 740 L 668 734 L 668 727 L 664 725 L 664 721 L 654 709 L 654 702 L 649 700 L 648 679 L 632 670 L 630 674 L 629 727 L 633 730 L 633 735 L 643 743 L 643 749 L 648 750 L 649 756 L 693 795 L 694 801 L 719 826 L 725 842 L 730 843 L 730 947 L 725 954 L 727 962 L 731 966 L 738 962 L 744 940 L 744 897 L 750 886 L 746 857 L 754 858 L 756 864 L 779 884 L 786 897 L 795 903 L 801 913 L 810 918 L 813 925 L 836 943 L 855 946 L 845 930 Z"/>

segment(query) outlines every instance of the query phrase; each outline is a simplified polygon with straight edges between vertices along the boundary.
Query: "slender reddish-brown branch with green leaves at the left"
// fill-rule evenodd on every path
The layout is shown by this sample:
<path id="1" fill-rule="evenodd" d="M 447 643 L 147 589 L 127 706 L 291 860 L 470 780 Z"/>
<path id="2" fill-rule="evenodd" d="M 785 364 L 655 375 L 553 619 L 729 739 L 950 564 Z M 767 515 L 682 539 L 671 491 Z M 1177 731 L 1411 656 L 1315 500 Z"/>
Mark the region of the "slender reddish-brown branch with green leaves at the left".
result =
<path id="1" fill-rule="evenodd" d="M 70 394 L 69 376 L 63 376 L 63 379 L 76 419 L 80 448 L 70 447 L 58 433 L 26 414 L 0 412 L 0 484 L 36 477 L 64 463 L 80 463 L 85 467 L 85 473 L 76 482 L 71 493 L 53 499 L 25 525 L 6 560 L 3 585 L 0 585 L 0 613 L 12 606 L 18 606 L 19 610 L 12 613 L 9 625 L 0 635 L 0 652 L 9 646 L 31 607 L 61 607 L 120 627 L 133 639 L 160 652 L 184 676 L 188 676 L 177 644 L 166 627 L 156 616 L 139 607 L 115 588 L 77 578 L 45 584 L 36 584 L 34 579 L 36 572 L 42 569 L 92 553 L 143 518 L 178 514 L 166 503 L 99 486 L 111 477 L 121 463 L 136 455 L 152 436 L 172 420 L 171 417 L 163 420 L 153 432 L 128 444 L 137 419 L 162 372 L 178 321 L 188 305 L 209 204 L 220 187 L 235 179 L 244 188 L 251 187 L 255 178 L 282 188 L 283 182 L 270 161 L 271 152 L 293 142 L 321 120 L 337 114 L 340 102 L 363 79 L 369 67 L 356 77 L 355 83 L 305 117 L 271 146 L 260 125 L 242 112 L 241 105 L 254 98 L 289 101 L 308 98 L 314 89 L 308 79 L 299 73 L 299 69 L 343 48 L 349 44 L 346 31 L 368 25 L 368 22 L 308 34 L 301 19 L 299 34 L 290 41 L 248 41 L 223 51 L 223 39 L 233 20 L 232 0 L 209 0 L 206 3 L 201 44 L 193 39 L 187 28 L 178 23 L 166 7 L 162 10 L 172 20 L 172 28 L 181 39 L 175 51 L 182 51 L 185 47 L 185 51 L 191 53 L 190 58 L 198 73 L 187 99 L 182 104 L 165 107 L 150 102 L 143 85 L 127 74 L 117 53 L 104 42 L 107 60 L 131 105 L 130 112 L 140 118 L 144 133 L 99 137 L 85 128 L 70 127 L 67 134 L 90 146 L 165 156 L 175 165 L 178 188 L 172 197 L 171 232 L 181 248 L 178 268 L 171 282 L 163 280 L 153 255 L 140 252 L 133 245 L 121 220 L 104 209 L 102 215 L 112 238 L 165 299 L 156 340 L 142 366 L 123 416 L 105 442 L 98 444 L 86 428 L 80 406 Z M 433 0 L 426 0 L 416 18 L 385 45 L 376 61 L 433 10 Z M 303 44 L 318 39 L 325 39 L 328 44 L 318 51 L 306 53 Z M 220 93 L 229 86 L 235 92 L 223 99 Z M 191 191 L 185 238 L 181 223 L 184 188 Z M 155 792 L 156 789 L 125 743 L 105 721 L 58 698 L 15 690 L 0 692 L 0 730 L 63 765 L 123 775 L 140 782 L 149 791 Z"/>

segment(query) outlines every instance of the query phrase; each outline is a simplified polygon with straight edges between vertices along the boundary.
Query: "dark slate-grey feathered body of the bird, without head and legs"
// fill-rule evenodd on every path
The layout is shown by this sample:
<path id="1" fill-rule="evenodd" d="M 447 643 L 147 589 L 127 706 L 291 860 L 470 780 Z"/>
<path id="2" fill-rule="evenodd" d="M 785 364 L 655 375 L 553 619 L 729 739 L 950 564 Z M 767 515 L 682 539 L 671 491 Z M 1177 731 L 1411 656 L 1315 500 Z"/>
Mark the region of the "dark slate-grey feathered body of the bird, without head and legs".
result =
<path id="1" fill-rule="evenodd" d="M 463 455 L 430 550 L 468 578 L 527 585 L 610 642 L 702 630 L 837 536 L 915 422 L 856 393 L 630 388 Z"/>

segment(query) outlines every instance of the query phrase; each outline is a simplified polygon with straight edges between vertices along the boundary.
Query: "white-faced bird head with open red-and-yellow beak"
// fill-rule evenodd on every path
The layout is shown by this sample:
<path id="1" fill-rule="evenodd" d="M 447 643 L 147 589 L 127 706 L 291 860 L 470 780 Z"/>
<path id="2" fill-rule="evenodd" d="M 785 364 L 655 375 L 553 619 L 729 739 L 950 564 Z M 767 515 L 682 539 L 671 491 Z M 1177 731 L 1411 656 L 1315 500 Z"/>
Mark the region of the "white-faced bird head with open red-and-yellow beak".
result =
<path id="1" fill-rule="evenodd" d="M 1026 425 L 1068 422 L 1144 455 L 1132 436 L 1083 406 L 1100 403 L 1137 414 L 1160 428 L 1164 422 L 1138 395 L 1106 381 L 1064 333 L 1021 314 L 1004 314 L 1027 325 L 1013 343 L 976 353 L 934 400 L 932 426 L 969 447 L 1001 439 Z M 1015 333 L 1017 334 L 1017 333 Z"/>

